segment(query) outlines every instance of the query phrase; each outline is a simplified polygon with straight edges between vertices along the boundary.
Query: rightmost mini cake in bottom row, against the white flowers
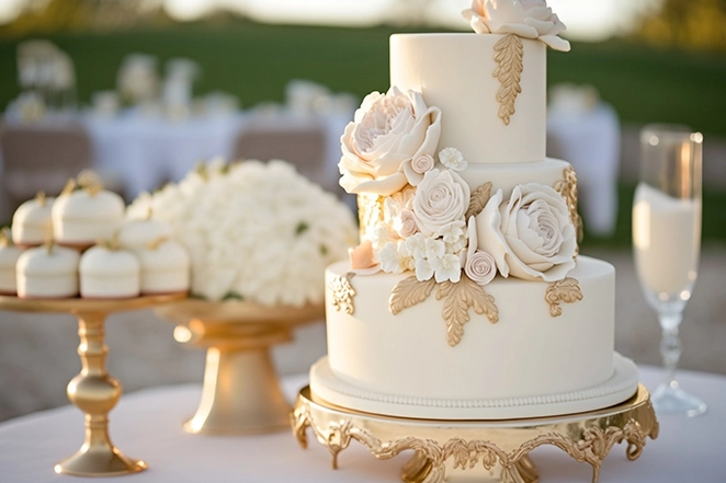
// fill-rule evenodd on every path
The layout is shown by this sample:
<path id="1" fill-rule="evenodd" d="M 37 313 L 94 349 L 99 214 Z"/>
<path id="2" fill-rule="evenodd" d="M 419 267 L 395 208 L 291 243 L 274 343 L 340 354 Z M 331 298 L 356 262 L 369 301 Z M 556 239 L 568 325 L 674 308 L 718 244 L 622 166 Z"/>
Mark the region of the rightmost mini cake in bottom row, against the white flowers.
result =
<path id="1" fill-rule="evenodd" d="M 177 241 L 158 239 L 136 251 L 141 265 L 141 294 L 185 292 L 190 287 L 191 262 Z"/>

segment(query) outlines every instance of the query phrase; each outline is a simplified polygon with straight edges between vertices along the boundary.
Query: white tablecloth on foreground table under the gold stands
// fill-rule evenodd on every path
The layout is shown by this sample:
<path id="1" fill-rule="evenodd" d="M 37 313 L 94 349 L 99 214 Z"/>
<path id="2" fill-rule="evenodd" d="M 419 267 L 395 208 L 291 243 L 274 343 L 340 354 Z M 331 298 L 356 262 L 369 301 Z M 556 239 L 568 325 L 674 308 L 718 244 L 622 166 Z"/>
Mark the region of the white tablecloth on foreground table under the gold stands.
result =
<path id="1" fill-rule="evenodd" d="M 660 370 L 640 367 L 640 380 L 655 388 Z M 696 418 L 659 416 L 658 439 L 647 440 L 640 458 L 625 458 L 625 445 L 613 448 L 600 474 L 601 483 L 723 482 L 726 478 L 726 377 L 680 372 L 682 387 L 708 404 Z M 306 376 L 286 378 L 293 398 Z M 129 483 L 200 482 L 398 482 L 408 455 L 378 461 L 356 441 L 330 467 L 328 450 L 308 430 L 303 450 L 292 433 L 248 437 L 185 434 L 181 423 L 196 409 L 201 388 L 177 386 L 122 396 L 111 413 L 111 437 L 129 457 L 149 463 L 145 472 L 124 476 Z M 83 437 L 83 417 L 72 407 L 45 411 L 0 424 L 0 481 L 8 483 L 71 483 L 89 479 L 57 475 L 53 465 L 73 452 Z M 542 483 L 586 483 L 590 465 L 578 463 L 554 447 L 532 453 Z"/>

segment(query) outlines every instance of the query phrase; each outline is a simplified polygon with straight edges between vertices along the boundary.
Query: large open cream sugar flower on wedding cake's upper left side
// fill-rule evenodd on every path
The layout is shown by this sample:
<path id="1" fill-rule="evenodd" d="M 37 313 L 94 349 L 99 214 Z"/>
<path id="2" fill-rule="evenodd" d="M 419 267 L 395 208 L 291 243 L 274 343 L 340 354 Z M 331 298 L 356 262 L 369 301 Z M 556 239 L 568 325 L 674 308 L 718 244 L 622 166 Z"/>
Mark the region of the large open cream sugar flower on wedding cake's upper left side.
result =
<path id="1" fill-rule="evenodd" d="M 396 87 L 368 94 L 341 137 L 340 185 L 348 193 L 388 196 L 423 175 L 411 163 L 432 156 L 441 135 L 441 111 L 421 94 Z"/>

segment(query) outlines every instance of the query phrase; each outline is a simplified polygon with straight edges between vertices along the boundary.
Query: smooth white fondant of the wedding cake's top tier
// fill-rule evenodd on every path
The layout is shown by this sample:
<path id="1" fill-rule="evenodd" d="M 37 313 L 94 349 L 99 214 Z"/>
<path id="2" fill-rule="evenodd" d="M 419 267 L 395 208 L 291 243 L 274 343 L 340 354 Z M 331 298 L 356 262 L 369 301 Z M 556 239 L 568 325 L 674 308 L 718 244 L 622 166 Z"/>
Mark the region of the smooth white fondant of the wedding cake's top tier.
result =
<path id="1" fill-rule="evenodd" d="M 522 92 L 509 125 L 499 118 L 495 44 L 503 35 L 397 34 L 390 37 L 390 84 L 411 89 L 441 110 L 439 148 L 454 147 L 468 162 L 517 163 L 545 159 L 546 50 L 522 39 Z M 526 180 L 536 181 L 536 180 Z"/>

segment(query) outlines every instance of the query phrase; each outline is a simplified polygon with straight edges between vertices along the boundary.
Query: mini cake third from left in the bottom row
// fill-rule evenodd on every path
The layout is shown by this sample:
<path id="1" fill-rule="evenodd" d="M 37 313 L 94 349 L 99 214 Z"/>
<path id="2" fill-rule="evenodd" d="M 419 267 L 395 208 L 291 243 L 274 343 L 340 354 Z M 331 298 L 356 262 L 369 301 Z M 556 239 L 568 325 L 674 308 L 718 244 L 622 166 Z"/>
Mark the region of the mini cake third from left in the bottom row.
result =
<path id="1" fill-rule="evenodd" d="M 139 263 L 133 253 L 104 242 L 87 250 L 80 262 L 81 297 L 123 299 L 138 297 Z"/>

